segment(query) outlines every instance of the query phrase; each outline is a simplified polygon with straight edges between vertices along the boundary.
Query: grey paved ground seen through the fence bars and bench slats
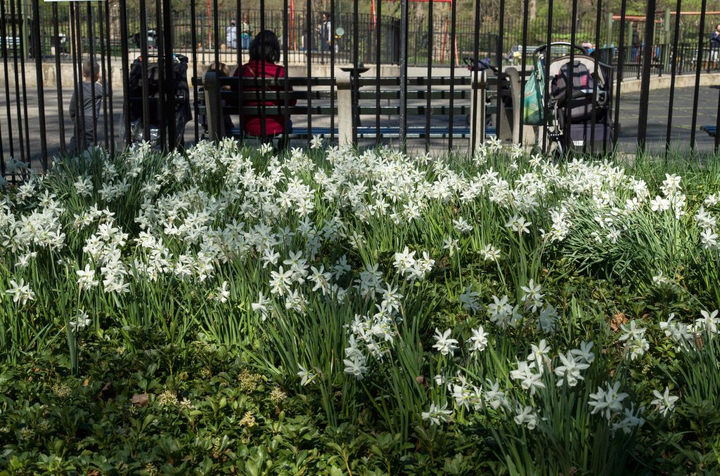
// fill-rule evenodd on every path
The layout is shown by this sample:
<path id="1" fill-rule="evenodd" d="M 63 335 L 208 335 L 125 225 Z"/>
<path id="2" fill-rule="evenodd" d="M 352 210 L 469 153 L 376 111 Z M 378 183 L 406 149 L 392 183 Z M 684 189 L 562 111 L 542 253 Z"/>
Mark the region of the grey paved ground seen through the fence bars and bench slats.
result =
<path id="1" fill-rule="evenodd" d="M 45 95 L 45 119 L 47 124 L 46 139 L 48 141 L 48 152 L 52 155 L 58 152 L 60 148 L 60 134 L 59 128 L 59 115 L 58 115 L 58 99 L 57 95 L 52 89 L 50 89 Z M 114 91 L 116 96 L 113 101 L 113 119 L 115 124 L 115 137 L 118 144 L 121 143 L 122 139 L 122 99 L 120 99 L 119 91 Z M 716 116 L 718 111 L 720 89 L 709 86 L 703 86 L 700 88 L 698 95 L 698 115 L 697 115 L 697 127 L 703 124 L 715 124 Z M 68 109 L 68 101 L 71 97 L 71 90 L 66 91 L 63 94 L 63 109 Z M 667 113 L 669 103 L 670 90 L 660 89 L 652 91 L 650 94 L 649 101 L 649 114 L 647 124 L 647 145 L 650 150 L 654 152 L 661 152 L 665 150 L 665 135 L 667 132 Z M 621 97 L 620 107 L 620 136 L 619 144 L 621 150 L 626 152 L 634 152 L 637 143 L 637 122 L 639 117 L 639 93 L 626 93 Z M 424 104 L 424 101 L 420 101 Z M 456 104 L 462 104 L 462 101 L 458 101 Z M 16 117 L 16 105 L 14 102 L 11 104 L 12 116 Z M 37 160 L 40 153 L 40 125 L 39 125 L 39 114 L 37 110 L 37 97 L 28 96 L 28 117 L 29 117 L 29 128 L 30 128 L 30 149 L 32 150 L 33 160 Z M 678 88 L 675 92 L 675 104 L 672 111 L 672 147 L 677 147 L 678 150 L 688 151 L 690 149 L 690 129 L 692 124 L 692 112 L 693 112 L 693 88 Z M 374 116 L 363 117 L 364 125 L 374 124 Z M 70 138 L 73 135 L 73 125 L 69 121 L 68 114 L 65 115 L 65 131 L 66 131 L 66 142 L 69 143 Z M 395 122 L 393 118 L 384 117 L 383 122 Z M 454 124 L 457 126 L 467 126 L 467 119 L 465 116 L 458 116 L 454 120 Z M 424 125 L 424 117 L 411 117 L 410 122 L 417 123 L 417 125 Z M 448 118 L 446 116 L 433 117 L 433 125 L 446 125 Z M 307 117 L 305 116 L 294 116 L 293 117 L 294 127 L 302 128 L 307 124 Z M 325 126 L 330 125 L 327 116 L 325 118 L 313 118 L 313 125 Z M 336 124 L 337 125 L 337 124 Z M 102 131 L 104 126 L 99 124 L 99 140 L 104 141 L 104 134 Z M 18 124 L 17 119 L 13 119 L 12 123 L 12 137 L 14 137 L 14 155 L 19 157 L 19 136 L 18 136 Z M 7 126 L 7 109 L 4 96 L 0 96 L 0 133 L 2 136 L 2 146 L 5 157 L 10 155 L 9 147 L 9 129 Z M 185 134 L 186 141 L 194 140 L 194 121 L 189 122 L 186 128 Z M 23 141 L 24 142 L 24 141 Z M 397 141 L 396 141 L 397 142 Z M 433 139 L 432 146 L 433 150 L 443 150 L 447 147 L 447 142 L 442 139 Z M 467 144 L 467 140 L 456 140 L 455 144 L 459 147 L 463 147 Z M 424 140 L 410 141 L 410 147 L 415 150 L 420 150 L 424 147 Z M 709 137 L 705 132 L 701 132 L 696 129 L 696 148 L 698 152 L 711 153 L 714 147 L 714 139 Z M 34 164 L 35 165 L 35 164 Z"/>

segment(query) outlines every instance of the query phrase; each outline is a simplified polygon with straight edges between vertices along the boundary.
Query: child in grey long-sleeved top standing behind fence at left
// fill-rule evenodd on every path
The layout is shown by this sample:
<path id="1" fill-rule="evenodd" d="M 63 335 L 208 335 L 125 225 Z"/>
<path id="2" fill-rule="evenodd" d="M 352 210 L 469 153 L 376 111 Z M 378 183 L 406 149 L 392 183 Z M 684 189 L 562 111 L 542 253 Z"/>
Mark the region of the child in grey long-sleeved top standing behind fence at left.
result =
<path id="1" fill-rule="evenodd" d="M 80 84 L 82 96 L 76 97 L 76 88 L 70 99 L 70 119 L 77 131 L 70 142 L 71 152 L 82 152 L 97 142 L 97 119 L 100 117 L 104 96 L 104 87 L 99 81 L 100 65 L 96 60 L 86 60 L 83 63 L 83 82 Z M 83 104 L 79 104 L 80 99 Z M 78 106 L 82 107 L 82 114 L 79 113 Z"/>

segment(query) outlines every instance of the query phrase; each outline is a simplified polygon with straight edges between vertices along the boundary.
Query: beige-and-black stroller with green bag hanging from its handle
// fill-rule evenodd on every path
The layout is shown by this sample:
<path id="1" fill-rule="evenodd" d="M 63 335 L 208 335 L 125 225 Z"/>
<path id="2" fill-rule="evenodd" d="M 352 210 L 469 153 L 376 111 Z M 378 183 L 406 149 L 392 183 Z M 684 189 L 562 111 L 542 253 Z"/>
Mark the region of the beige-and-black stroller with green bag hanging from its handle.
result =
<path id="1" fill-rule="evenodd" d="M 548 138 L 557 144 L 561 154 L 569 150 L 605 152 L 611 147 L 613 130 L 610 66 L 600 63 L 577 45 L 565 42 L 551 45 L 558 50 L 574 48 L 577 52 L 573 55 L 572 65 L 569 52 L 558 58 L 548 58 L 548 45 L 533 53 L 541 91 L 546 91 L 542 78 L 546 62 L 549 62 Z M 596 64 L 598 75 L 594 77 Z"/>

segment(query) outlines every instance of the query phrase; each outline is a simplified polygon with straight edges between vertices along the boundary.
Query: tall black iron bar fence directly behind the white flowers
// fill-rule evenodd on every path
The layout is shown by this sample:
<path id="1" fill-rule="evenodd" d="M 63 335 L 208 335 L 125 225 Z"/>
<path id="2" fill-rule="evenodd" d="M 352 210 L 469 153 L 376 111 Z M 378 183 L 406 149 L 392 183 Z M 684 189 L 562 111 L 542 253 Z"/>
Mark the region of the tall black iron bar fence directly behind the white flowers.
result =
<path id="1" fill-rule="evenodd" d="M 654 76 L 670 81 L 666 147 L 684 140 L 695 149 L 698 125 L 717 122 L 718 114 L 698 117 L 698 105 L 708 87 L 701 77 L 718 68 L 720 38 L 711 41 L 718 12 L 656 12 L 649 0 L 643 14 L 630 15 L 626 2 L 621 12 L 607 14 L 597 1 L 596 12 L 571 21 L 579 18 L 577 0 L 549 0 L 546 14 L 536 18 L 529 17 L 528 0 L 523 14 L 512 18 L 499 2 L 499 16 L 490 19 L 482 17 L 479 0 L 472 10 L 463 4 L 461 12 L 452 2 L 426 1 L 412 18 L 410 0 L 400 0 L 399 14 L 392 15 L 380 0 L 372 14 L 361 14 L 358 2 L 354 11 L 339 12 L 336 0 L 327 2 L 327 12 L 313 11 L 309 0 L 298 1 L 297 10 L 287 0 L 280 10 L 264 9 L 262 1 L 260 9 L 257 2 L 247 9 L 238 0 L 235 9 L 222 10 L 217 0 L 191 0 L 182 11 L 170 0 L 140 0 L 139 9 L 127 8 L 124 0 L 0 0 L 0 173 L 12 175 L 17 161 L 45 168 L 53 155 L 86 145 L 116 152 L 140 139 L 174 148 L 217 139 L 220 132 L 248 135 L 243 114 L 262 116 L 264 124 L 266 112 L 276 116 L 266 106 L 292 116 L 292 127 L 282 126 L 281 134 L 297 141 L 315 135 L 343 141 L 343 130 L 350 130 L 352 142 L 407 145 L 416 139 L 427 150 L 438 144 L 475 147 L 486 135 L 567 150 L 578 142 L 593 145 L 599 136 L 608 150 L 618 143 L 623 84 L 633 79 L 641 86 L 631 120 L 637 122 L 637 144 L 645 147 Z M 264 29 L 276 33 L 278 63 L 290 79 L 252 88 L 263 97 L 249 101 L 247 81 L 228 77 L 248 62 L 250 42 Z M 551 46 L 534 55 L 546 44 Z M 478 63 L 482 58 L 487 60 Z M 562 68 L 577 58 L 586 63 Z M 220 71 L 220 86 L 206 93 L 202 76 L 209 66 Z M 536 67 L 544 78 L 535 88 L 540 121 L 526 111 Z M 694 76 L 688 137 L 671 134 L 680 75 Z M 96 86 L 92 78 L 98 78 Z M 578 78 L 590 97 L 582 105 L 590 112 L 582 114 L 572 88 L 563 90 L 566 101 L 556 91 L 558 81 Z M 248 104 L 258 114 L 248 112 Z M 218 128 L 223 117 L 228 126 Z M 343 129 L 348 124 L 351 129 Z"/>

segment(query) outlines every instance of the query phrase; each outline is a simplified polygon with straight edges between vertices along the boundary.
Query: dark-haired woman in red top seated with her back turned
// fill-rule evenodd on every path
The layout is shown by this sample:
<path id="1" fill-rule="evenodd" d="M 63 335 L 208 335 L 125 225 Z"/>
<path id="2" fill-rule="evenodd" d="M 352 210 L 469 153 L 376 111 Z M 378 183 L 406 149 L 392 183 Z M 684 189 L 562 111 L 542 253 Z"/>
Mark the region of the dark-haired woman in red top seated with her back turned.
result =
<path id="1" fill-rule="evenodd" d="M 242 78 L 285 78 L 285 68 L 276 63 L 280 60 L 280 42 L 277 35 L 266 29 L 259 32 L 250 45 L 250 61 L 235 70 L 235 77 Z M 268 86 L 268 91 L 283 91 L 284 88 L 279 86 Z M 292 91 L 292 86 L 288 86 L 288 90 Z M 245 88 L 245 91 L 258 91 L 258 88 Z M 285 101 L 274 101 L 267 99 L 265 106 L 284 106 Z M 288 101 L 289 106 L 294 106 L 296 99 Z M 261 101 L 248 101 L 243 106 L 261 106 Z M 258 113 L 260 113 L 258 107 Z M 276 137 L 280 137 L 287 130 L 292 129 L 292 121 L 289 115 L 283 114 L 266 114 L 265 120 L 261 114 L 246 114 L 242 118 L 243 132 L 249 136 L 260 137 L 261 142 L 271 143 Z M 278 148 L 284 149 L 287 144 L 279 143 Z"/>

